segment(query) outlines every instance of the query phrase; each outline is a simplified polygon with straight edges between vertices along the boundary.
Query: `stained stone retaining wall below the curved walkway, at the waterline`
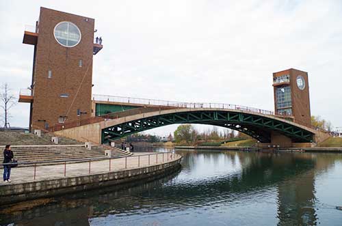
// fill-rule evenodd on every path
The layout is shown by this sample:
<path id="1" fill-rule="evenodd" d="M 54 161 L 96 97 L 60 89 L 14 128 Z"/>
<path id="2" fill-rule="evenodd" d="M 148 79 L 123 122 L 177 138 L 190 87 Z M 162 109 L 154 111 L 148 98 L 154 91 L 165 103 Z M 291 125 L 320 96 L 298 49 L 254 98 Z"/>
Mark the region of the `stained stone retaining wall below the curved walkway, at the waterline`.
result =
<path id="1" fill-rule="evenodd" d="M 107 173 L 93 173 L 68 178 L 1 184 L 0 203 L 3 205 L 26 201 L 28 199 L 53 197 L 82 190 L 103 188 L 105 186 L 155 180 L 179 170 L 181 167 L 181 158 L 178 155 L 166 163 L 145 167 L 132 167 L 130 169 L 110 171 Z"/>

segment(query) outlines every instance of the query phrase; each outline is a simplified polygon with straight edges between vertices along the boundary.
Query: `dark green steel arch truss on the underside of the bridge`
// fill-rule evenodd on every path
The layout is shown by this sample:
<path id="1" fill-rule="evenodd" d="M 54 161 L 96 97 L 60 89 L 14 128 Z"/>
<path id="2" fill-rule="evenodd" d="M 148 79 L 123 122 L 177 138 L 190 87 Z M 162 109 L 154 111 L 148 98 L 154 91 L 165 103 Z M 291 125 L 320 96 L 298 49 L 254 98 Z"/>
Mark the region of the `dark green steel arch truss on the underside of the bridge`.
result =
<path id="1" fill-rule="evenodd" d="M 290 137 L 293 142 L 312 142 L 313 133 L 277 119 L 232 111 L 189 111 L 145 117 L 102 130 L 102 142 L 170 124 L 210 124 L 244 132 L 261 143 L 271 141 L 271 132 Z"/>

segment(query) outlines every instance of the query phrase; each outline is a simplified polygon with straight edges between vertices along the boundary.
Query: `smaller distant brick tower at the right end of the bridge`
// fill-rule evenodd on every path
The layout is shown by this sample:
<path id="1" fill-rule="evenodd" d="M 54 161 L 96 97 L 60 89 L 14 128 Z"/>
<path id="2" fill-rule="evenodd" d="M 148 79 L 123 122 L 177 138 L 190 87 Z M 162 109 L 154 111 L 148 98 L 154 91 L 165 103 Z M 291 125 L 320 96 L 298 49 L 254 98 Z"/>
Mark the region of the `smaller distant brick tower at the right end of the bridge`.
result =
<path id="1" fill-rule="evenodd" d="M 293 68 L 273 73 L 274 110 L 294 122 L 311 125 L 308 73 Z"/>

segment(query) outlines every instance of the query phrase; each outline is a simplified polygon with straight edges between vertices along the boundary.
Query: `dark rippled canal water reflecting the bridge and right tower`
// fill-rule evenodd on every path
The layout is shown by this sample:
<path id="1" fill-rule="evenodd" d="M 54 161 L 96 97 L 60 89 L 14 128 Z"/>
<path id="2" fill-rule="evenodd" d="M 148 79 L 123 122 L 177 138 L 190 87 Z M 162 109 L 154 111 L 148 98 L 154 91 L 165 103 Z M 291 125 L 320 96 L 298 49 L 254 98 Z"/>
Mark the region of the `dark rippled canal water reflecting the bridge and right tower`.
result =
<path id="1" fill-rule="evenodd" d="M 342 225 L 342 154 L 175 152 L 182 169 L 166 178 L 16 208 L 0 225 Z"/>

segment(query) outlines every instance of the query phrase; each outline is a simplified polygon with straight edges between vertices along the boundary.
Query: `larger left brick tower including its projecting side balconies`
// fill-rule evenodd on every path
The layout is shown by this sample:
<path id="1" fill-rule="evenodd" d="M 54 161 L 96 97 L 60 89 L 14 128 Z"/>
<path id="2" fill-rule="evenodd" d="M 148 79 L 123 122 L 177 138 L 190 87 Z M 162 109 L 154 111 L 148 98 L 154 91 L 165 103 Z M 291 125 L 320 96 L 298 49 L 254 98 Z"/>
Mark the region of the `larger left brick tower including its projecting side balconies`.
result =
<path id="1" fill-rule="evenodd" d="M 103 48 L 94 43 L 94 19 L 40 8 L 23 43 L 34 45 L 31 85 L 19 97 L 31 105 L 29 128 L 90 117 L 92 57 Z"/>

